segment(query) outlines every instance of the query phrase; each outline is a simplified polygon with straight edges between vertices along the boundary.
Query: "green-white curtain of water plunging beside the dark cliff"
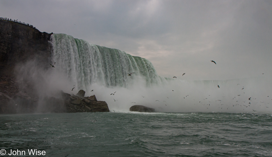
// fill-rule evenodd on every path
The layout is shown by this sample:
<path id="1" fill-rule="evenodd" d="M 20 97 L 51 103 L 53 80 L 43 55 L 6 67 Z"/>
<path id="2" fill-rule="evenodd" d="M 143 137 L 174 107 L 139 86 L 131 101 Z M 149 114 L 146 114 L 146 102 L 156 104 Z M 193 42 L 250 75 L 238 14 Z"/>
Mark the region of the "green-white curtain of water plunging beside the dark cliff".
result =
<path id="1" fill-rule="evenodd" d="M 108 87 L 127 87 L 135 79 L 143 79 L 146 86 L 165 80 L 145 58 L 131 56 L 117 49 L 89 44 L 66 34 L 52 34 L 53 61 L 78 88 L 93 83 Z M 127 73 L 132 73 L 133 77 Z"/>

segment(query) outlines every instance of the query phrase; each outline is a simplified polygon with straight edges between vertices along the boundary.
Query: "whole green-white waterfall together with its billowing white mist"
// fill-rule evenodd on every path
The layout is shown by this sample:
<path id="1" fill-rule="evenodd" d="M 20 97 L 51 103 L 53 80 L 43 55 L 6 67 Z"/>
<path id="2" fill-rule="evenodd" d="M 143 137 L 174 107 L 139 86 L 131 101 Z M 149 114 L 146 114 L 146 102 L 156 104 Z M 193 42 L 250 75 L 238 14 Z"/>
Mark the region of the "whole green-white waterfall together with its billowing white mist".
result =
<path id="1" fill-rule="evenodd" d="M 157 75 L 148 60 L 117 49 L 89 44 L 66 34 L 53 34 L 50 41 L 52 62 L 56 62 L 56 68 L 50 70 L 56 70 L 52 72 L 56 81 L 61 78 L 58 81 L 62 84 L 70 82 L 62 87 L 64 92 L 76 94 L 83 89 L 85 95 L 95 94 L 98 100 L 106 101 L 111 111 L 129 111 L 132 105 L 145 105 L 159 112 L 272 111 L 271 78 L 165 79 Z M 71 91 L 73 85 L 75 90 Z"/>

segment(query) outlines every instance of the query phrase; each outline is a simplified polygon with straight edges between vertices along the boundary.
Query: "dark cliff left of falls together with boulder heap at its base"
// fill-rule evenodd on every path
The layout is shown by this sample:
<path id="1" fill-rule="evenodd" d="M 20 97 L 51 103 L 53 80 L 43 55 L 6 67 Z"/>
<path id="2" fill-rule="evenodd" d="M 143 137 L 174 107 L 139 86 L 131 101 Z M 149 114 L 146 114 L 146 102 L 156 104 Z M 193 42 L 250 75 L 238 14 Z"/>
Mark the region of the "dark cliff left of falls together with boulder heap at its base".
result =
<path id="1" fill-rule="evenodd" d="M 38 95 L 33 81 L 42 83 L 42 71 L 52 64 L 51 34 L 29 25 L 0 19 L 0 113 L 109 111 L 104 101 L 91 100 L 91 104 L 87 99 L 77 99 L 81 105 L 75 105 L 60 99 L 58 95 Z M 36 70 L 35 80 L 33 76 L 32 80 L 28 78 L 33 75 L 32 68 Z M 75 97 L 69 98 L 70 101 L 72 99 Z M 100 109 L 99 106 L 104 108 Z"/>

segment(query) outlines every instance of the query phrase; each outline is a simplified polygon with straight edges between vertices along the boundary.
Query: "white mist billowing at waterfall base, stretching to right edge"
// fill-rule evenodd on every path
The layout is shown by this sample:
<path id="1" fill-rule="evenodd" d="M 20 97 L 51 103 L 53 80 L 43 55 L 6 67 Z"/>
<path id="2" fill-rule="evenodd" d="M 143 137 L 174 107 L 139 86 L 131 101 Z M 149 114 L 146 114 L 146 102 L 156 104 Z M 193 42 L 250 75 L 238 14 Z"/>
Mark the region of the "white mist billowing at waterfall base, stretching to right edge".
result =
<path id="1" fill-rule="evenodd" d="M 86 94 L 106 101 L 111 111 L 129 111 L 133 105 L 144 105 L 156 112 L 267 113 L 272 111 L 270 81 L 264 76 L 223 81 L 172 79 L 152 87 L 145 83 L 133 83 L 127 88 L 93 84 L 87 87 Z"/>

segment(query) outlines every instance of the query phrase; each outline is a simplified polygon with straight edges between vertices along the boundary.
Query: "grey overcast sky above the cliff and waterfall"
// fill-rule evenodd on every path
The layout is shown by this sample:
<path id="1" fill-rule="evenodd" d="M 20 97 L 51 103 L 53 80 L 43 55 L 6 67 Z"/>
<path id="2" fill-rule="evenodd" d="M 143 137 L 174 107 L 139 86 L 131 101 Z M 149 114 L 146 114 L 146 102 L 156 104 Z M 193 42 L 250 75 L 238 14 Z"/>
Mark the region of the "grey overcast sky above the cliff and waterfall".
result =
<path id="1" fill-rule="evenodd" d="M 272 77 L 271 0 L 0 0 L 0 17 L 146 58 L 162 77 Z"/>

